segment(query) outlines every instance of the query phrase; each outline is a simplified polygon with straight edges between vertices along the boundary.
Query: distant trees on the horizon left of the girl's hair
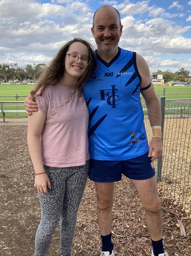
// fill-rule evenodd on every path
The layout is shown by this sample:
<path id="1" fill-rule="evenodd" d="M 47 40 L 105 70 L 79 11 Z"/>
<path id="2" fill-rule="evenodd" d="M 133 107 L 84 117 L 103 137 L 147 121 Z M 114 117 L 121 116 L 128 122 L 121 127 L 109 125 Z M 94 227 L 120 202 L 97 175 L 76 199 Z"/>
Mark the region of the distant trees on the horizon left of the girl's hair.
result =
<path id="1" fill-rule="evenodd" d="M 14 64 L 0 64 L 0 79 L 4 79 L 6 82 L 9 80 L 24 79 L 37 80 L 41 71 L 46 66 L 45 63 L 40 64 L 26 64 L 24 67 L 19 67 L 17 63 Z"/>

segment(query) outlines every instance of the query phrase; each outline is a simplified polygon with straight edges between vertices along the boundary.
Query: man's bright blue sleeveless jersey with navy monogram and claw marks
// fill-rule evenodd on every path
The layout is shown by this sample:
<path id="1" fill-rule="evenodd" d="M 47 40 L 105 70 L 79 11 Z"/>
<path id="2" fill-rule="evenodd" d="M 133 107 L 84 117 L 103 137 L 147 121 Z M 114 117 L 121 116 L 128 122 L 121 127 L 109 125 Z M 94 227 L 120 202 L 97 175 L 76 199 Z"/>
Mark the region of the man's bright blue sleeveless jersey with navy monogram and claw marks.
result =
<path id="1" fill-rule="evenodd" d="M 149 146 L 136 53 L 119 48 L 110 63 L 96 59 L 98 67 L 83 89 L 90 113 L 90 156 L 115 161 L 141 156 Z"/>

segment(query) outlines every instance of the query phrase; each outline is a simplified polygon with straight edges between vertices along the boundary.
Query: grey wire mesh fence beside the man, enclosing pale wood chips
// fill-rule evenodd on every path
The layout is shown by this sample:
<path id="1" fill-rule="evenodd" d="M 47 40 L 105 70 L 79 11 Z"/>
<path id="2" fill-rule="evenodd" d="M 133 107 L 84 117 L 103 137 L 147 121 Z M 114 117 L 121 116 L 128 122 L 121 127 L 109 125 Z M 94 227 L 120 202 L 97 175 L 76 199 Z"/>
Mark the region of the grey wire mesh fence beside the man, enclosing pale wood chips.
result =
<path id="1" fill-rule="evenodd" d="M 162 156 L 155 161 L 158 187 L 165 198 L 191 213 L 191 104 L 160 98 L 162 109 Z M 142 107 L 146 111 L 145 102 Z M 147 114 L 145 128 L 148 141 L 152 129 Z"/>

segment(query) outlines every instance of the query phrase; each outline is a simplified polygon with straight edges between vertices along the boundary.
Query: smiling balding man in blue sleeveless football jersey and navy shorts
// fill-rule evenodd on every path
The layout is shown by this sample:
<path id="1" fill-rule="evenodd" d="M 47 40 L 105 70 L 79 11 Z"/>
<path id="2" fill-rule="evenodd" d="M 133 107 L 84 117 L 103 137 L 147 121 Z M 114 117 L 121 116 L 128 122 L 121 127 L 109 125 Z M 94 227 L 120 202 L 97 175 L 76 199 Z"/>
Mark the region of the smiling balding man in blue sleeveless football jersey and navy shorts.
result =
<path id="1" fill-rule="evenodd" d="M 152 256 L 167 256 L 162 245 L 162 214 L 152 162 L 162 152 L 160 106 L 146 61 L 118 47 L 122 29 L 120 14 L 112 6 L 101 6 L 95 12 L 91 31 L 98 47 L 95 52 L 98 67 L 83 89 L 90 112 L 89 178 L 96 186 L 102 239 L 100 256 L 114 256 L 111 241 L 114 182 L 121 179 L 122 173 L 131 179 L 145 209 Z M 153 129 L 150 147 L 140 91 Z M 34 108 L 35 102 L 32 104 Z M 28 96 L 24 104 L 28 114 L 30 105 Z"/>

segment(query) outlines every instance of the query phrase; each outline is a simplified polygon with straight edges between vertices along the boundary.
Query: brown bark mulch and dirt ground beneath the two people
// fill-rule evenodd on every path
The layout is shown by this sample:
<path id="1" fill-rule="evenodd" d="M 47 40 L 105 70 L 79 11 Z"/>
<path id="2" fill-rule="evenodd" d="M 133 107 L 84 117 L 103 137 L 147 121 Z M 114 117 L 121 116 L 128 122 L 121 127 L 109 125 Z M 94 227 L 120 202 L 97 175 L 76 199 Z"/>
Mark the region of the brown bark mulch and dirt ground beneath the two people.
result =
<path id="1" fill-rule="evenodd" d="M 32 256 L 41 211 L 38 193 L 33 187 L 33 166 L 26 141 L 27 126 L 0 126 L 0 255 Z M 168 198 L 162 206 L 177 213 L 186 237 L 180 236 L 176 216 L 163 211 L 163 238 L 169 255 L 191 255 L 190 219 Z M 143 207 L 132 184 L 123 177 L 115 183 L 113 205 L 113 242 L 116 256 L 151 255 L 151 241 Z M 87 181 L 81 206 L 72 255 L 100 255 L 100 235 L 96 218 L 96 193 Z M 59 224 L 53 234 L 48 256 L 60 255 Z"/>

